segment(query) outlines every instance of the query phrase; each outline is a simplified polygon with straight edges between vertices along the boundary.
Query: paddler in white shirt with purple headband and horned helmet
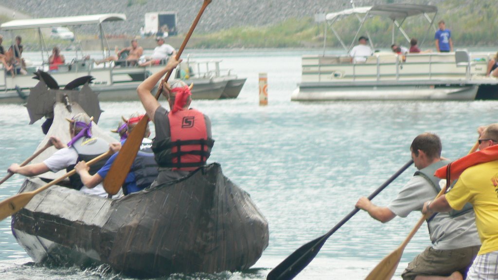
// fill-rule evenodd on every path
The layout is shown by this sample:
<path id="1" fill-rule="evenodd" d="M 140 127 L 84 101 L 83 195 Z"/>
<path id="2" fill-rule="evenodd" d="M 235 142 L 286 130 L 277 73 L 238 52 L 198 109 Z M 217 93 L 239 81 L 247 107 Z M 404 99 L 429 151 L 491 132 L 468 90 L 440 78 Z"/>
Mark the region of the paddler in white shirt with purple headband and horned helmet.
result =
<path id="1" fill-rule="evenodd" d="M 91 160 L 92 158 L 106 152 L 110 148 L 110 144 L 92 135 L 92 120 L 85 113 L 80 113 L 74 116 L 69 122 L 69 134 L 71 141 L 65 145 L 57 137 L 51 137 L 50 140 L 59 150 L 45 159 L 43 162 L 28 164 L 20 167 L 14 163 L 10 165 L 8 171 L 19 173 L 25 176 L 36 176 L 48 171 L 57 172 L 62 169 L 70 171 L 80 160 Z M 111 148 L 114 150 L 119 143 L 112 143 Z M 101 160 L 92 165 L 90 172 L 97 172 L 106 161 Z M 107 197 L 104 187 L 95 187 L 89 189 L 83 185 L 79 175 L 75 174 L 69 177 L 71 188 L 80 190 L 84 193 Z M 116 197 L 119 195 L 116 195 Z"/>

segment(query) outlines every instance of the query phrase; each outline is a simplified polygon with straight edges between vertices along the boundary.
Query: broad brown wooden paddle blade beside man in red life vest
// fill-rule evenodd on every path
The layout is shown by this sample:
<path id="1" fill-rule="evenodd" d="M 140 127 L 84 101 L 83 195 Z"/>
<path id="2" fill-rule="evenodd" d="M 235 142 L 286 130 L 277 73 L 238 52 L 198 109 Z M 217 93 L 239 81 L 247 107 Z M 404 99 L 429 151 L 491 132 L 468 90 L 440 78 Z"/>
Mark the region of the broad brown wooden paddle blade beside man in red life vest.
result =
<path id="1" fill-rule="evenodd" d="M 107 193 L 115 195 L 120 191 L 120 188 L 126 179 L 126 175 L 128 175 L 129 169 L 133 164 L 133 160 L 136 157 L 136 153 L 140 148 L 148 122 L 148 116 L 143 116 L 128 135 L 128 138 L 126 138 L 123 147 L 121 147 L 113 165 L 111 165 L 109 172 L 104 178 L 104 189 Z"/>

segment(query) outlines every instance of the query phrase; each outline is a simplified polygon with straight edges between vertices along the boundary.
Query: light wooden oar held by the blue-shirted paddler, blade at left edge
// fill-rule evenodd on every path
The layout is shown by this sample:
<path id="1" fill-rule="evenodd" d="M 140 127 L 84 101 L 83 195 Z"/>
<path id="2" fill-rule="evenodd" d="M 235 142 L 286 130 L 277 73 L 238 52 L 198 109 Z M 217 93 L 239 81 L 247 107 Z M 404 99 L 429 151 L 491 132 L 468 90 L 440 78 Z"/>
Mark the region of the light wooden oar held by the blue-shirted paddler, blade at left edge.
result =
<path id="1" fill-rule="evenodd" d="M 95 157 L 94 159 L 88 161 L 87 165 L 90 166 L 90 165 L 94 164 L 95 162 L 112 155 L 112 153 L 113 152 L 109 150 L 109 151 Z M 64 174 L 62 177 L 55 179 L 55 180 L 51 181 L 50 183 L 45 184 L 42 187 L 37 188 L 34 191 L 19 193 L 19 194 L 12 196 L 12 197 L 9 197 L 7 199 L 2 200 L 0 202 L 0 221 L 5 219 L 8 216 L 11 216 L 12 214 L 16 213 L 17 211 L 21 210 L 24 206 L 26 206 L 26 204 L 28 204 L 28 202 L 36 194 L 46 190 L 47 188 L 57 184 L 58 182 L 64 180 L 65 178 L 67 178 L 75 173 L 76 173 L 76 170 L 73 169 L 73 170 L 67 172 L 66 174 Z"/>

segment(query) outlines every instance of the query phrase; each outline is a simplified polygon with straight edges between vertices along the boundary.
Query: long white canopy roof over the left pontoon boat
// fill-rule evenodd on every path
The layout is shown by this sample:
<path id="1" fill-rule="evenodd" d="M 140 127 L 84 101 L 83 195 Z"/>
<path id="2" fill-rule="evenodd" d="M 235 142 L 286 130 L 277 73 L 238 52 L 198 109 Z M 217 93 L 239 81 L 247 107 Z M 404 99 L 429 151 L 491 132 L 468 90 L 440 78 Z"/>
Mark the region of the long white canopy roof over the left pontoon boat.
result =
<path id="1" fill-rule="evenodd" d="M 64 17 L 16 19 L 0 25 L 1 30 L 17 30 L 62 25 L 100 24 L 104 21 L 126 20 L 124 13 L 103 13 Z"/>

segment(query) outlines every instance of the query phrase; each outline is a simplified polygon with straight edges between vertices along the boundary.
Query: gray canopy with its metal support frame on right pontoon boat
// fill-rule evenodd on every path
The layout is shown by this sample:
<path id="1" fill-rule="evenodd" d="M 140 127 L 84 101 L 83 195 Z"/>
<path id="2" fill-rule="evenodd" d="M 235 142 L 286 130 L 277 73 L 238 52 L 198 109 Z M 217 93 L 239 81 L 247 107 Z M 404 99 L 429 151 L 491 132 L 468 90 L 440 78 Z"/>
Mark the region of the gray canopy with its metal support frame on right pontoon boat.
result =
<path id="1" fill-rule="evenodd" d="M 428 15 L 429 13 L 434 13 L 432 18 L 429 17 L 429 15 Z M 358 28 L 358 31 L 356 32 L 355 37 L 353 38 L 353 42 L 351 43 L 351 45 L 349 47 L 347 47 L 344 44 L 341 37 L 339 36 L 339 33 L 337 32 L 337 30 L 334 29 L 333 25 L 340 18 L 350 16 L 353 14 L 356 15 L 356 17 L 360 21 L 360 27 Z M 345 9 L 345 10 L 338 11 L 338 12 L 328 13 L 325 16 L 325 18 L 329 22 L 329 25 L 330 25 L 332 31 L 334 32 L 336 37 L 339 39 L 339 42 L 341 43 L 341 45 L 349 53 L 349 51 L 353 48 L 353 46 L 356 42 L 356 39 L 358 38 L 358 35 L 360 33 L 360 30 L 361 30 L 363 24 L 365 23 L 365 21 L 367 20 L 367 18 L 370 15 L 387 17 L 387 18 L 392 20 L 392 24 L 393 24 L 392 43 L 394 43 L 394 31 L 396 29 L 394 27 L 397 27 L 397 29 L 401 32 L 401 34 L 403 34 L 403 36 L 405 37 L 405 39 L 408 42 L 410 41 L 410 37 L 408 37 L 406 32 L 401 27 L 401 25 L 403 24 L 403 22 L 405 21 L 405 19 L 407 17 L 414 16 L 414 15 L 424 15 L 424 17 L 429 22 L 429 27 L 427 29 L 427 31 L 429 31 L 431 26 L 434 27 L 434 19 L 436 17 L 436 14 L 437 14 L 437 7 L 433 6 L 433 5 L 406 4 L 406 3 L 398 4 L 398 3 L 396 3 L 396 4 L 381 4 L 381 5 L 364 6 L 364 7 L 353 7 L 353 8 Z M 434 27 L 434 29 L 435 29 L 435 27 Z M 371 47 L 373 48 L 372 38 L 371 38 L 368 31 L 366 31 L 366 33 L 367 33 L 367 36 L 369 37 L 369 42 L 371 44 Z M 425 37 L 424 37 L 424 40 L 422 40 L 421 44 L 423 44 L 424 41 L 425 41 Z M 325 49 L 324 49 L 324 51 L 325 51 Z"/>

